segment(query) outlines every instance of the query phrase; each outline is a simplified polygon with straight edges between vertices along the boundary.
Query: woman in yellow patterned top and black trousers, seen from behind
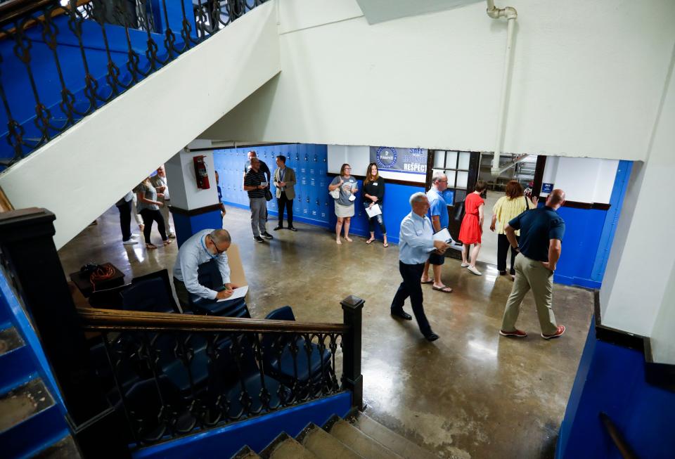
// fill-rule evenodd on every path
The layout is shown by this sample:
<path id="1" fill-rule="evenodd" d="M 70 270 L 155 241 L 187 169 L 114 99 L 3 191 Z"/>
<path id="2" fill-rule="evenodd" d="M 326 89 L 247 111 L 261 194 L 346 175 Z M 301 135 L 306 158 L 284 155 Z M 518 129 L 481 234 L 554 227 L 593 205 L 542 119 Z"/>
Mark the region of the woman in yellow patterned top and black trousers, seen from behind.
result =
<path id="1" fill-rule="evenodd" d="M 506 184 L 506 196 L 502 196 L 492 207 L 492 223 L 490 230 L 497 231 L 497 269 L 502 276 L 506 275 L 506 254 L 510 244 L 504 233 L 504 227 L 509 221 L 515 219 L 518 215 L 527 209 L 536 207 L 537 198 L 529 200 L 522 193 L 522 186 L 518 181 L 512 180 Z M 515 232 L 515 238 L 518 239 L 520 231 Z M 511 277 L 515 276 L 515 255 L 516 252 L 511 248 Z"/>

